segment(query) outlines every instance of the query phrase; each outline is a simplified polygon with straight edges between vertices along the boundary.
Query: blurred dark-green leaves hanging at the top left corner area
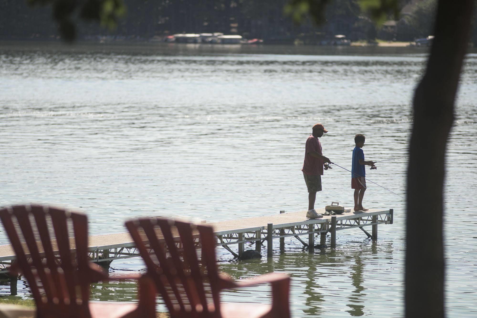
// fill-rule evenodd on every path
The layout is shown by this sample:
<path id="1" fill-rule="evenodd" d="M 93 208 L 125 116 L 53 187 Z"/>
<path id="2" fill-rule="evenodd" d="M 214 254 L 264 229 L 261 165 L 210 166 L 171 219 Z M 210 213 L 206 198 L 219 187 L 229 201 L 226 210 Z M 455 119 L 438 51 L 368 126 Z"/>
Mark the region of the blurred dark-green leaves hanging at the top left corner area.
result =
<path id="1" fill-rule="evenodd" d="M 116 28 L 118 19 L 124 16 L 126 8 L 123 0 L 27 0 L 30 5 L 51 5 L 53 19 L 65 41 L 76 38 L 76 18 L 98 21 L 110 30 Z"/>

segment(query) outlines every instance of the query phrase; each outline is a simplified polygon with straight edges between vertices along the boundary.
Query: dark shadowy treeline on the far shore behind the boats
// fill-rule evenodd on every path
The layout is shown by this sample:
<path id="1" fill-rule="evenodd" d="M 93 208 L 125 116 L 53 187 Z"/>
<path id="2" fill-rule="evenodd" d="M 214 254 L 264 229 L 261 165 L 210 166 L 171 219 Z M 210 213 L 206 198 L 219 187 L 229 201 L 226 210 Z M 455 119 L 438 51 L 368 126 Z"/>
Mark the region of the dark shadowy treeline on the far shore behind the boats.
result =
<path id="1" fill-rule="evenodd" d="M 95 35 L 150 39 L 175 33 L 239 34 L 266 42 L 318 43 L 336 34 L 348 39 L 412 41 L 430 35 L 425 27 L 432 23 L 436 0 L 424 0 L 415 14 L 406 13 L 396 25 L 376 29 L 360 12 L 357 0 L 333 0 L 326 8 L 326 23 L 311 21 L 294 24 L 283 14 L 289 0 L 124 0 L 126 15 L 111 31 L 96 22 L 77 18 L 78 39 Z M 408 2 L 409 3 L 409 2 Z M 421 6 L 422 7 L 422 6 Z M 419 10 L 416 10 L 419 9 Z M 76 14 L 78 16 L 78 14 Z M 418 23 L 421 22 L 421 23 Z M 422 26 L 422 24 L 425 26 Z M 58 27 L 51 6 L 34 6 L 26 0 L 0 0 L 0 39 L 56 39 Z"/>

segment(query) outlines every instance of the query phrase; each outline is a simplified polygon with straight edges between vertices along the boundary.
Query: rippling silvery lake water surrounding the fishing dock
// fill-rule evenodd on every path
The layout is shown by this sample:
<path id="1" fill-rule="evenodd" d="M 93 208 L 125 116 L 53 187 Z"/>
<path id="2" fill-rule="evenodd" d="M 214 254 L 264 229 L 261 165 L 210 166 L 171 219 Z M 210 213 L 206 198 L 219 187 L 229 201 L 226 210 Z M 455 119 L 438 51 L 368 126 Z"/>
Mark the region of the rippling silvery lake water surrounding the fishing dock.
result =
<path id="1" fill-rule="evenodd" d="M 78 208 L 91 235 L 125 232 L 125 219 L 143 215 L 211 222 L 306 209 L 300 169 L 311 126 L 323 123 L 323 154 L 348 169 L 356 133 L 368 160 L 405 156 L 425 59 L 418 48 L 0 43 L 0 205 Z M 446 160 L 448 317 L 477 315 L 476 100 L 473 52 Z M 366 176 L 405 196 L 406 163 L 376 164 Z M 350 173 L 333 167 L 322 183 L 316 207 L 353 205 Z M 363 205 L 394 208 L 377 242 L 342 231 L 335 252 L 309 255 L 286 238 L 284 254 L 277 241 L 261 262 L 218 249 L 220 269 L 237 279 L 289 273 L 294 317 L 402 317 L 404 203 L 369 183 Z M 3 229 L 0 243 L 9 243 Z M 111 264 L 141 270 L 138 258 Z M 18 289 L 30 297 L 24 281 Z M 269 302 L 269 289 L 223 299 Z M 92 298 L 135 299 L 135 284 L 98 284 Z"/>

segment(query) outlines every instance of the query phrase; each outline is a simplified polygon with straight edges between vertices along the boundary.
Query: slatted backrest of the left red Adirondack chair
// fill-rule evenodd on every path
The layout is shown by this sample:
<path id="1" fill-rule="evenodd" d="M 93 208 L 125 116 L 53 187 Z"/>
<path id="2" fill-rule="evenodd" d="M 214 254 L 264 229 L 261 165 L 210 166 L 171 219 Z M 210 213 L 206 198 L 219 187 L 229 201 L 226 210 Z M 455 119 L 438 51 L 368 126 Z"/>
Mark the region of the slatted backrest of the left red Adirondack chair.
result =
<path id="1" fill-rule="evenodd" d="M 88 313 L 86 215 L 42 205 L 21 205 L 1 209 L 0 219 L 39 316 L 41 311 L 58 313 L 59 308 L 63 314 L 64 310 L 75 313 L 70 317 Z"/>

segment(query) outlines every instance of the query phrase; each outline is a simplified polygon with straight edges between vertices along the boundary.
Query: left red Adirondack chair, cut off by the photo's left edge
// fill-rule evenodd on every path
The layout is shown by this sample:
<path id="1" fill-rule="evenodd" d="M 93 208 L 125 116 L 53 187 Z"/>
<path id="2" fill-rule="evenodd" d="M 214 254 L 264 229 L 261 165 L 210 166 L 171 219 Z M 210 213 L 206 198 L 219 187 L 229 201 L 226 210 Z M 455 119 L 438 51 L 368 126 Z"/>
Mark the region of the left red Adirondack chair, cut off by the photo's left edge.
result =
<path id="1" fill-rule="evenodd" d="M 86 215 L 41 205 L 0 210 L 0 219 L 17 256 L 11 272 L 30 286 L 38 318 L 155 318 L 154 283 L 148 277 L 111 276 L 88 260 Z M 139 304 L 89 302 L 90 284 L 139 279 Z"/>

